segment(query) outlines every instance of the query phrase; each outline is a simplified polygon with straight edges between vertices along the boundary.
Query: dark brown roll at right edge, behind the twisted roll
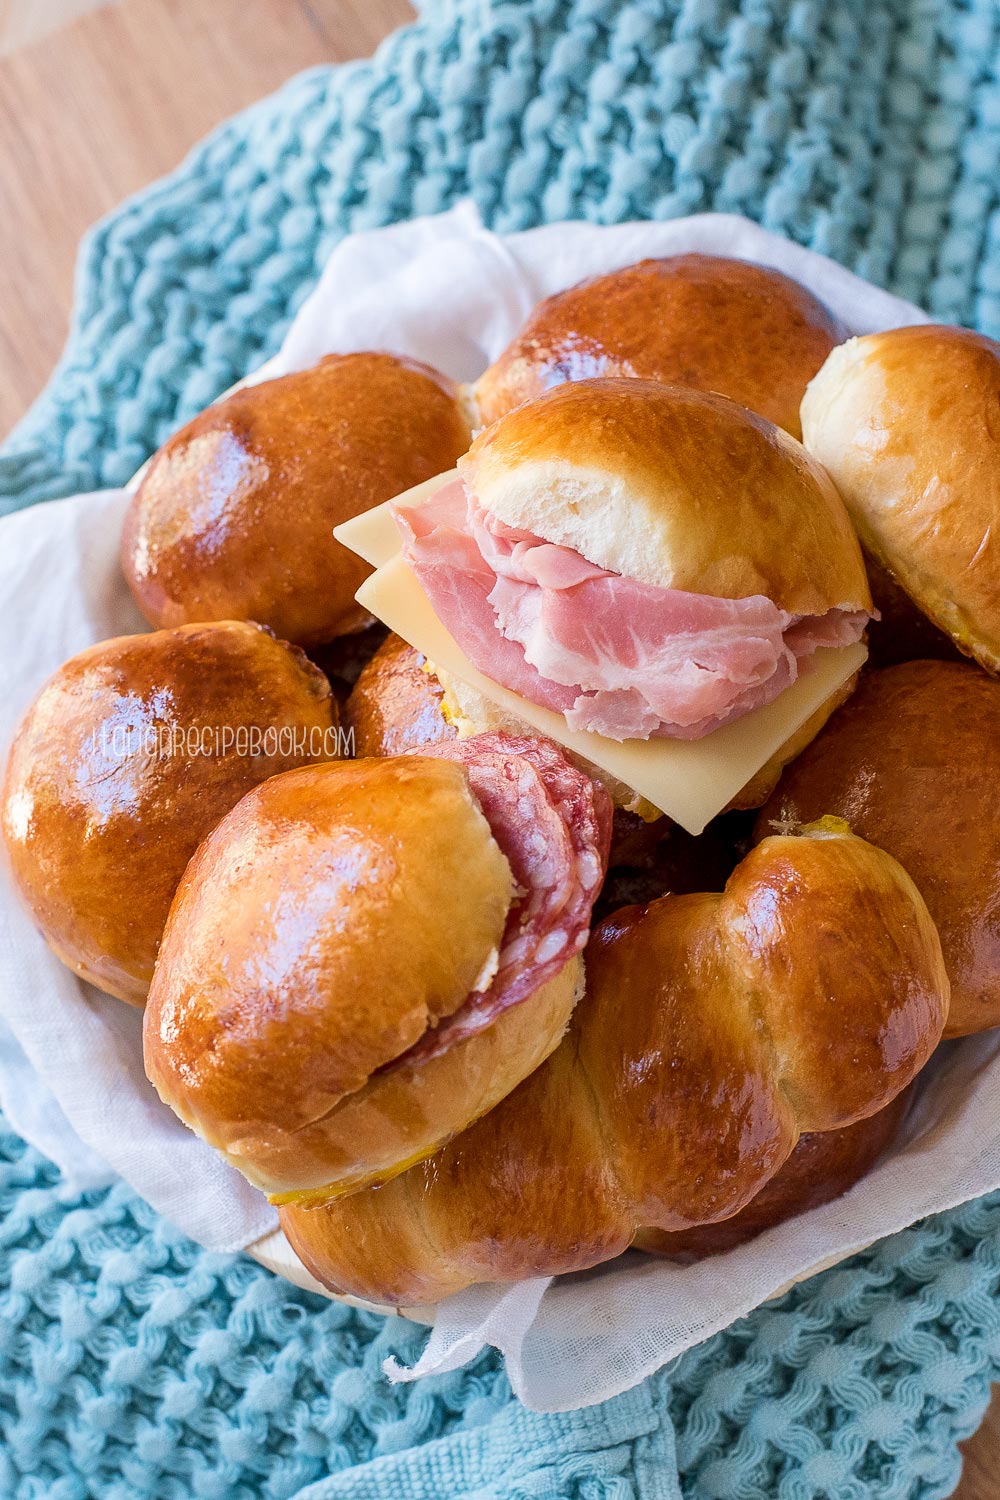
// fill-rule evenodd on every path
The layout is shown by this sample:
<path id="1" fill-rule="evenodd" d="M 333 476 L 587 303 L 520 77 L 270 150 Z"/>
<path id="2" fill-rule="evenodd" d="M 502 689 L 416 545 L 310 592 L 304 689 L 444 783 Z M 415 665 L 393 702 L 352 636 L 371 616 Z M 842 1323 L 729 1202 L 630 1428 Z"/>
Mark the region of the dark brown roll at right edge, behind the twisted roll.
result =
<path id="1" fill-rule="evenodd" d="M 862 674 L 792 765 L 757 837 L 832 813 L 894 855 L 937 922 L 948 1036 L 1000 1024 L 1000 682 L 958 662 Z"/>

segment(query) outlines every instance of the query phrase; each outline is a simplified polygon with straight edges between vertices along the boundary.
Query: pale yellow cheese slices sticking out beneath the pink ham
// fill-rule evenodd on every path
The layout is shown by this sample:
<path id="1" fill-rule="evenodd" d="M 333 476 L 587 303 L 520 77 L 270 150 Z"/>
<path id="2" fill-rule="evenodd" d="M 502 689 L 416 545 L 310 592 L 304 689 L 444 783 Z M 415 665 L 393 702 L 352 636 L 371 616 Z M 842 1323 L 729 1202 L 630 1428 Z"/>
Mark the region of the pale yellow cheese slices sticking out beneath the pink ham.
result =
<path id="1" fill-rule="evenodd" d="M 439 488 L 442 480 L 432 483 Z M 358 519 L 367 520 L 372 514 L 369 512 Z M 396 531 L 391 518 L 390 525 Z M 355 526 L 357 522 L 348 522 L 337 528 L 339 538 L 348 546 L 354 543 L 343 532 Z M 360 538 L 369 548 L 367 552 L 361 544 L 355 548 L 367 561 L 379 561 L 378 572 L 357 592 L 358 604 L 435 666 L 451 672 L 508 714 L 523 718 L 532 729 L 625 782 L 691 834 L 700 834 L 729 806 L 736 792 L 843 687 L 868 656 L 862 645 L 817 651 L 813 670 L 772 704 L 724 724 L 703 740 L 627 740 L 619 744 L 603 735 L 568 729 L 561 714 L 528 702 L 474 668 L 435 615 L 430 600 L 403 561 L 399 534 L 396 532 L 393 555 L 385 560 L 388 534 L 379 528 L 381 522 L 376 520 Z"/>

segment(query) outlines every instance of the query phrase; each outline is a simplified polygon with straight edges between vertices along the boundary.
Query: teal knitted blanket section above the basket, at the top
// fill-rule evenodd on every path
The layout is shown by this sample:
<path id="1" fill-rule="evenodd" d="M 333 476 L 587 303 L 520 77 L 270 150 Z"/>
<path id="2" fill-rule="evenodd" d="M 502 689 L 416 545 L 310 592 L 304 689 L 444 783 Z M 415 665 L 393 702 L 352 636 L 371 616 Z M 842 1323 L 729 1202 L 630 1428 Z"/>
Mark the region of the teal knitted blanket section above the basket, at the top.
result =
<path id="1" fill-rule="evenodd" d="M 88 237 L 7 506 L 120 484 L 271 352 L 340 236 L 732 210 L 1000 333 L 1000 0 L 424 0 Z"/>

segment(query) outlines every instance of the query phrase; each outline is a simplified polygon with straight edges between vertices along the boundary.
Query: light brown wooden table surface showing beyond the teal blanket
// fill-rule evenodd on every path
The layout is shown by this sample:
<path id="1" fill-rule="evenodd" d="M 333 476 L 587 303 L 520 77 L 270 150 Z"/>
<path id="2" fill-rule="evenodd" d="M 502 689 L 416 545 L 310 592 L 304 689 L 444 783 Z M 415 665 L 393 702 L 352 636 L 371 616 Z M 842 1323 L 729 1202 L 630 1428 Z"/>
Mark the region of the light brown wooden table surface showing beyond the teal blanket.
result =
<path id="1" fill-rule="evenodd" d="M 408 0 L 117 0 L 0 58 L 0 434 L 63 345 L 87 225 L 228 114 L 411 18 Z M 1000 1400 L 955 1497 L 1000 1500 Z"/>

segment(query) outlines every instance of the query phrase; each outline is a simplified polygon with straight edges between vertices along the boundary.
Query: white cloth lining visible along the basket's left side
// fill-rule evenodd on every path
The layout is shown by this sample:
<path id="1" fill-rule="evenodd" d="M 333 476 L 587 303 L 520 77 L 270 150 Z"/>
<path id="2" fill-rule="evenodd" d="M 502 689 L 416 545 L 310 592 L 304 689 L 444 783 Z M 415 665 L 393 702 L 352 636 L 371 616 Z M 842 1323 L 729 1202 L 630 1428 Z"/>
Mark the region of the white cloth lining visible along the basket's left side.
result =
<path id="1" fill-rule="evenodd" d="M 100 490 L 0 522 L 0 742 L 55 668 L 144 630 L 118 567 L 127 495 Z M 142 892 L 135 892 L 136 902 Z M 82 984 L 0 885 L 0 1102 L 76 1186 L 118 1173 L 211 1250 L 240 1250 L 274 1210 L 163 1108 L 142 1072 L 142 1017 Z"/>

